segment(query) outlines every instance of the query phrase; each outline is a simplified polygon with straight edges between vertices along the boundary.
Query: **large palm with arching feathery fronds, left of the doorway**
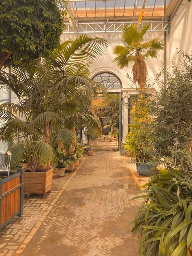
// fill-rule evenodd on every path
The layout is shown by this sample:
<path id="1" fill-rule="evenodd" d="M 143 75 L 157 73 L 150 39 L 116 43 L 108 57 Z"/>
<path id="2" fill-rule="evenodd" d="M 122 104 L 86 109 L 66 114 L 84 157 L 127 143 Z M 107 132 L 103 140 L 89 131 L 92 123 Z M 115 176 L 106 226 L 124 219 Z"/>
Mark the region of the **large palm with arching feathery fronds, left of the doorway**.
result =
<path id="1" fill-rule="evenodd" d="M 0 141 L 9 142 L 11 169 L 17 168 L 23 151 L 32 170 L 49 169 L 55 161 L 54 148 L 69 148 L 77 126 L 99 126 L 88 109 L 101 87 L 89 78 L 90 64 L 105 53 L 108 43 L 84 35 L 66 41 L 42 62 L 9 75 L 0 71 L 1 88 L 15 94 L 15 102 L 0 105 Z M 74 145 L 73 145 L 74 146 Z M 5 155 L 3 164 L 7 164 Z"/>

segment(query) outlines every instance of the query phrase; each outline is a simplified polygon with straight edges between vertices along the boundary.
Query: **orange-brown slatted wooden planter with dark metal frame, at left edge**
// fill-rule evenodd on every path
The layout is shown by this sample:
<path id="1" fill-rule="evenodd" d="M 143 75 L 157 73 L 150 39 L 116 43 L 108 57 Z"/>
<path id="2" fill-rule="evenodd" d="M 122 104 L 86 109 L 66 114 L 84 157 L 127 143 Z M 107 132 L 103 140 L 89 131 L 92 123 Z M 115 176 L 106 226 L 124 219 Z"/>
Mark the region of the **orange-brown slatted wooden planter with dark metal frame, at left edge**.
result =
<path id="1" fill-rule="evenodd" d="M 7 172 L 1 172 L 7 175 Z M 16 216 L 23 214 L 23 170 L 9 172 L 0 178 L 0 230 Z"/>

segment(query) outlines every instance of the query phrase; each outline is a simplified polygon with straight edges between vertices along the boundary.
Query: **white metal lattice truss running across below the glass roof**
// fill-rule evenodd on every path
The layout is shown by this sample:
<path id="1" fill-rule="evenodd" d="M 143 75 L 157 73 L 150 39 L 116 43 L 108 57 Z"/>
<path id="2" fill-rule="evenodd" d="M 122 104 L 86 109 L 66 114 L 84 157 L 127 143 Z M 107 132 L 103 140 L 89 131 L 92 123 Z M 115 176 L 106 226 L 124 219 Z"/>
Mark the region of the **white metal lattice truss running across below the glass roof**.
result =
<path id="1" fill-rule="evenodd" d="M 142 21 L 139 27 L 143 27 L 146 24 L 150 23 L 149 30 L 147 32 L 158 31 L 163 32 L 167 31 L 166 25 L 169 20 L 162 21 Z M 78 22 L 77 25 L 72 27 L 69 23 L 66 24 L 66 30 L 64 34 L 70 33 L 109 33 L 109 32 L 122 32 L 124 26 L 132 24 L 133 21 L 95 21 L 95 22 Z"/>

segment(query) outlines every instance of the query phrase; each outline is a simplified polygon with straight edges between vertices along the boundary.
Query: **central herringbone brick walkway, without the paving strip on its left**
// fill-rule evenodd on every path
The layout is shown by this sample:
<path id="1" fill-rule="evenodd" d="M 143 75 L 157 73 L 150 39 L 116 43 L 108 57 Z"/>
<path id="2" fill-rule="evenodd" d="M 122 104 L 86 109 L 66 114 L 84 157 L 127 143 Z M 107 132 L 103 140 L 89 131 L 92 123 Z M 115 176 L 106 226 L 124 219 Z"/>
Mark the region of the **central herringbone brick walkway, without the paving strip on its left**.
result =
<path id="1" fill-rule="evenodd" d="M 118 152 L 94 152 L 22 256 L 138 256 L 139 241 L 132 240 L 130 224 L 139 205 L 131 198 L 138 190 Z"/>

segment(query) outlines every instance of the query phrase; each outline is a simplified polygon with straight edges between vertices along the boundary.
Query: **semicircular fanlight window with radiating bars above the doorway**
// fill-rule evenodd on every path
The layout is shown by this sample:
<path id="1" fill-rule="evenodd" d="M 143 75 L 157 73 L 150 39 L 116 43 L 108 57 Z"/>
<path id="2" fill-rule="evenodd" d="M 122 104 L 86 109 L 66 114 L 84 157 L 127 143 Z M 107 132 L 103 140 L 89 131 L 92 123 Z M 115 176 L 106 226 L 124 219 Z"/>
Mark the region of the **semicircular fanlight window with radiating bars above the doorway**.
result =
<path id="1" fill-rule="evenodd" d="M 107 90 L 121 89 L 122 83 L 118 77 L 112 73 L 100 73 L 93 78 L 93 81 L 102 83 Z"/>

